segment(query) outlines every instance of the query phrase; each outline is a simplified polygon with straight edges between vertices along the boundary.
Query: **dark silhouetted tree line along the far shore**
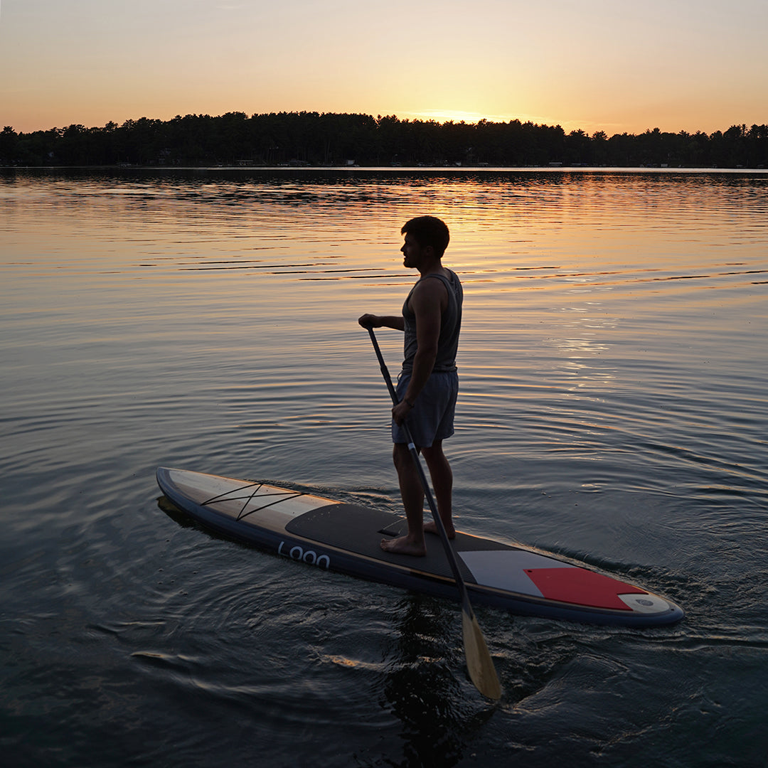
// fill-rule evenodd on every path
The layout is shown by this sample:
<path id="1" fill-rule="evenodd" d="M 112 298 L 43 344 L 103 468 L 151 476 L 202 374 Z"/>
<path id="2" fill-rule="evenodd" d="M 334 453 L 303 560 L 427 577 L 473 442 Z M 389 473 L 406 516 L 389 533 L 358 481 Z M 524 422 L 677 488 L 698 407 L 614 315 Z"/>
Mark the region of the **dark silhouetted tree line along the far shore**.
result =
<path id="1" fill-rule="evenodd" d="M 512 120 L 478 123 L 401 120 L 394 115 L 229 112 L 69 125 L 0 133 L 8 166 L 768 166 L 768 126 L 642 134 L 566 133 Z"/>

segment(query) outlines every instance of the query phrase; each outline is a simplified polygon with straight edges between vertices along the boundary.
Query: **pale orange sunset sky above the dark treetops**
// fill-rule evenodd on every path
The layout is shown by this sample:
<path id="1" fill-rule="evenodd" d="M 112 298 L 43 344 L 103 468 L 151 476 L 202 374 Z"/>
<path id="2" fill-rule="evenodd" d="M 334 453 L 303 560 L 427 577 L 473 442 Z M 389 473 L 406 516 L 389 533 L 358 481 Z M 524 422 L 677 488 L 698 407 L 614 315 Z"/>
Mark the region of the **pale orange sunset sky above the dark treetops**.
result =
<path id="1" fill-rule="evenodd" d="M 0 127 L 363 112 L 768 123 L 768 0 L 0 0 Z"/>

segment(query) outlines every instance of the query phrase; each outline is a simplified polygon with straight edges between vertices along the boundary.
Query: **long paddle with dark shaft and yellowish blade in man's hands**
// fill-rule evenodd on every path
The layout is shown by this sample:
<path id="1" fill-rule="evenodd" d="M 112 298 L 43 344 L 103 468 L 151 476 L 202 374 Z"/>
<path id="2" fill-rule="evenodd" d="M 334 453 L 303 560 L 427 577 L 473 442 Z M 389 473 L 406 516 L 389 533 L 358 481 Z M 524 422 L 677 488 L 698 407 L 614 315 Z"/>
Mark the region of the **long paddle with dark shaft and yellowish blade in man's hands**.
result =
<path id="1" fill-rule="evenodd" d="M 376 350 L 376 357 L 379 358 L 379 366 L 381 366 L 382 376 L 384 376 L 387 389 L 389 389 L 389 395 L 392 397 L 392 403 L 393 405 L 397 405 L 397 393 L 395 392 L 395 387 L 392 385 L 392 379 L 389 377 L 389 370 L 387 370 L 381 349 L 379 349 L 379 342 L 376 341 L 372 326 L 368 326 L 368 333 L 371 335 L 373 349 Z M 445 532 L 445 525 L 442 524 L 442 519 L 437 511 L 435 500 L 432 498 L 432 492 L 429 490 L 429 483 L 424 474 L 421 459 L 419 459 L 419 451 L 413 444 L 411 432 L 408 429 L 406 422 L 402 423 L 402 430 L 406 433 L 408 449 L 416 466 L 416 470 L 419 473 L 419 480 L 421 481 L 422 488 L 424 488 L 424 495 L 429 504 L 429 509 L 432 511 L 432 517 L 435 518 L 435 527 L 440 536 L 440 541 L 442 541 L 442 546 L 445 549 L 445 556 L 448 558 L 451 570 L 453 571 L 453 578 L 456 581 L 459 598 L 461 598 L 464 655 L 467 660 L 469 677 L 483 696 L 487 696 L 489 699 L 499 699 L 502 696 L 502 687 L 498 682 L 496 670 L 493 666 L 493 660 L 491 654 L 488 652 L 488 645 L 485 644 L 485 637 L 483 637 L 477 617 L 475 617 L 475 611 L 472 611 L 472 604 L 469 602 L 469 594 L 466 584 L 464 583 L 462 573 L 458 568 L 456 553 L 453 551 L 448 534 Z"/>

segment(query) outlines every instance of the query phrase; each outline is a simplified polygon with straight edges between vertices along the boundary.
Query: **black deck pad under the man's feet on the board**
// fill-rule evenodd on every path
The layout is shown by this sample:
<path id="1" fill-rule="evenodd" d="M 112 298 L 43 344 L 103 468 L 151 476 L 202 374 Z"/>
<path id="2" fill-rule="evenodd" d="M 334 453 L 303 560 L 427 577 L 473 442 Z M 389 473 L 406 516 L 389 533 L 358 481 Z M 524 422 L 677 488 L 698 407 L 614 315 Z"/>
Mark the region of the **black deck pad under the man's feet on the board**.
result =
<path id="1" fill-rule="evenodd" d="M 429 515 L 429 513 L 427 513 Z M 364 555 L 386 563 L 406 566 L 414 571 L 452 578 L 451 566 L 438 536 L 427 535 L 427 555 L 425 558 L 413 558 L 407 554 L 385 552 L 379 543 L 382 538 L 395 538 L 406 533 L 406 518 L 394 512 L 386 512 L 356 504 L 334 504 L 294 518 L 286 525 L 286 531 L 295 536 L 317 541 L 331 547 Z M 454 551 L 482 551 L 515 549 L 498 541 L 456 534 L 451 541 Z M 476 584 L 475 578 L 459 558 L 462 578 L 468 584 Z"/>

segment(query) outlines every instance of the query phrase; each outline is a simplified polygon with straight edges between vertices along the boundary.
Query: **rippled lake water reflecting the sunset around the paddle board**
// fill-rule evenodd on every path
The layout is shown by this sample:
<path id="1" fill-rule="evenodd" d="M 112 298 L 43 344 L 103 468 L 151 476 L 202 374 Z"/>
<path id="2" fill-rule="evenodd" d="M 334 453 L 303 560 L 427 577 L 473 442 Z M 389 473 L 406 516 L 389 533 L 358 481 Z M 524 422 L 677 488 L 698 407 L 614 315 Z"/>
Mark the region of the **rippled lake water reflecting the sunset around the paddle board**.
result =
<path id="1" fill-rule="evenodd" d="M 441 215 L 458 525 L 674 627 L 478 608 L 215 538 L 157 465 L 399 510 L 364 312 Z M 768 765 L 768 175 L 3 171 L 6 766 Z M 378 334 L 396 372 L 402 336 Z"/>

